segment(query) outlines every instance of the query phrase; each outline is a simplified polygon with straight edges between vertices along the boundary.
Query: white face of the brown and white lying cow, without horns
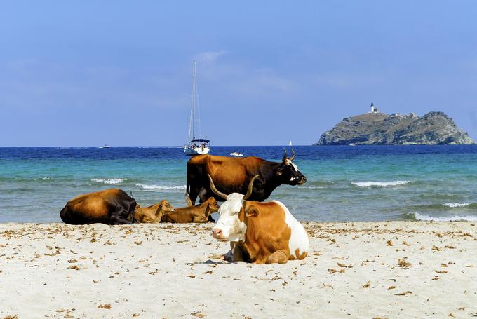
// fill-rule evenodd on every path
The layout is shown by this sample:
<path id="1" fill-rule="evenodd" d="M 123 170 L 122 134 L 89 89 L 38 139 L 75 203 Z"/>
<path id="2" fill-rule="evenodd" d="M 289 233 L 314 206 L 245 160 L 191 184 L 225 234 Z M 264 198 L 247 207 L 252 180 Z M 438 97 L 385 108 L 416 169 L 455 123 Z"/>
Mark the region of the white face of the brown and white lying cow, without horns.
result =
<path id="1" fill-rule="evenodd" d="M 227 201 L 220 206 L 220 217 L 212 231 L 222 231 L 221 239 L 229 241 L 243 240 L 247 226 L 238 219 L 242 202 L 242 194 L 232 193 L 227 196 Z"/>

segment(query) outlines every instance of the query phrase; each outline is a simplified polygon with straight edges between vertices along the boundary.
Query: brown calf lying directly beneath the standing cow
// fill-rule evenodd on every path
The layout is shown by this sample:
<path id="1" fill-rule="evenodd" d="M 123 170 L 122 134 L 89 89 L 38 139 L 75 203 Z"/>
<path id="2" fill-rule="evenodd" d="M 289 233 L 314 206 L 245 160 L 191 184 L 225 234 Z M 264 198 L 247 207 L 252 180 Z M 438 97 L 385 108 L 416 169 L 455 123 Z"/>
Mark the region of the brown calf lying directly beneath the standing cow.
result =
<path id="1" fill-rule="evenodd" d="M 219 204 L 215 198 L 210 197 L 207 201 L 196 206 L 176 208 L 173 212 L 166 212 L 161 222 L 166 223 L 206 223 L 210 214 L 219 210 Z"/>

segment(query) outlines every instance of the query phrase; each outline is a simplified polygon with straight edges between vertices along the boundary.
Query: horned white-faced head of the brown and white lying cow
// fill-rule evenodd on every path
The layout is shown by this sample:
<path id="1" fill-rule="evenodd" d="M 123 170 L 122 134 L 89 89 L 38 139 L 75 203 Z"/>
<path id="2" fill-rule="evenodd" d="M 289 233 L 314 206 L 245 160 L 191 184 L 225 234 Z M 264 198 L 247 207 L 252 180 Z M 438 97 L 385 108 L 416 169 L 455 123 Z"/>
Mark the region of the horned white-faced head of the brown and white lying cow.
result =
<path id="1" fill-rule="evenodd" d="M 252 194 L 253 181 L 255 181 L 258 176 L 260 175 L 255 175 L 250 179 L 247 194 L 232 193 L 226 195 L 215 188 L 212 177 L 208 175 L 210 179 L 210 189 L 226 200 L 219 208 L 220 217 L 212 229 L 212 236 L 214 238 L 222 241 L 238 241 L 244 239 L 247 230 L 246 218 L 248 217 L 248 213 L 246 212 L 246 200 Z"/>

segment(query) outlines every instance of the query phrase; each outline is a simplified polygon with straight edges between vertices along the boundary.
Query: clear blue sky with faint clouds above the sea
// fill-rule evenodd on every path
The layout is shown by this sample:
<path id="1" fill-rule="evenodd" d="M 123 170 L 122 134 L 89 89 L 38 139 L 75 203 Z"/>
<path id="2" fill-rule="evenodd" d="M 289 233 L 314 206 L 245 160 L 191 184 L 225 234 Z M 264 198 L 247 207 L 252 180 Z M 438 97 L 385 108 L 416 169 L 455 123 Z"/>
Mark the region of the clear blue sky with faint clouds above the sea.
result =
<path id="1" fill-rule="evenodd" d="M 369 111 L 477 139 L 477 1 L 2 1 L 0 146 L 317 142 Z"/>

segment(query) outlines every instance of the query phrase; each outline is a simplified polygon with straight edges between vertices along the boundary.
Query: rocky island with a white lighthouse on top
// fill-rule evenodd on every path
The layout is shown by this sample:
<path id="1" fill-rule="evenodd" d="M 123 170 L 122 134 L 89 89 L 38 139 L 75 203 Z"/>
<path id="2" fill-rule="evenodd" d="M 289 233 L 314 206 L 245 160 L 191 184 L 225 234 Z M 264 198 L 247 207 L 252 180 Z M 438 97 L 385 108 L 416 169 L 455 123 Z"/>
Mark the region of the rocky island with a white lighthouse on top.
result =
<path id="1" fill-rule="evenodd" d="M 384 114 L 371 105 L 366 114 L 344 118 L 323 133 L 314 145 L 410 145 L 475 144 L 452 118 L 443 112 L 422 117 Z"/>

